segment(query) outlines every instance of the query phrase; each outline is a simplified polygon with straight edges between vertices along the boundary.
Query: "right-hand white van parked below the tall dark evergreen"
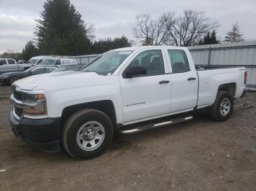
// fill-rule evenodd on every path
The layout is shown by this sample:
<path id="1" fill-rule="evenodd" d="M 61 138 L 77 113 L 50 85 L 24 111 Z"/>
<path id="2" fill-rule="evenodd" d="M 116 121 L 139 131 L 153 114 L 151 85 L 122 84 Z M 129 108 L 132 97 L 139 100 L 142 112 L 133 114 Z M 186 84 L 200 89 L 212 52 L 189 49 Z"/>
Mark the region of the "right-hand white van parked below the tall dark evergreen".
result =
<path id="1" fill-rule="evenodd" d="M 78 64 L 75 58 L 46 58 L 37 65 L 67 66 Z"/>

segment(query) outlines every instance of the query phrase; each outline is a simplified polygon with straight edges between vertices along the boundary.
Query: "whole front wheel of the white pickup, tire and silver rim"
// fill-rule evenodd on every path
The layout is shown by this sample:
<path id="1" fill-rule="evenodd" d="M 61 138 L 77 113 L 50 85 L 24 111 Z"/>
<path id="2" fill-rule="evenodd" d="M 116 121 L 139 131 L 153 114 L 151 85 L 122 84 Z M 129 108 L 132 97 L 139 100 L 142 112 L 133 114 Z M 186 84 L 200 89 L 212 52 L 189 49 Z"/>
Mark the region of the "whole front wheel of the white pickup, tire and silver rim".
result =
<path id="1" fill-rule="evenodd" d="M 102 154 L 113 138 L 110 118 L 95 109 L 83 109 L 69 117 L 64 125 L 62 141 L 73 157 L 89 159 Z"/>

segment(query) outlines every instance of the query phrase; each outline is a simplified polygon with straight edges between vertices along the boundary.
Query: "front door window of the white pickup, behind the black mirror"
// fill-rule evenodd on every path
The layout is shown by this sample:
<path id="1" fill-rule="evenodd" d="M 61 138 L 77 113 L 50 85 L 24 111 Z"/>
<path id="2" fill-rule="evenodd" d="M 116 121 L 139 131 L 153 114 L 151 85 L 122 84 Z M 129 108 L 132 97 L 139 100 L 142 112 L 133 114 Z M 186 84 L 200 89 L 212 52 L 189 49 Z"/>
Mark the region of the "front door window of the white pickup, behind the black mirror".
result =
<path id="1" fill-rule="evenodd" d="M 165 65 L 161 50 L 146 50 L 141 52 L 129 64 L 130 66 L 143 66 L 147 70 L 146 76 L 165 74 Z"/>

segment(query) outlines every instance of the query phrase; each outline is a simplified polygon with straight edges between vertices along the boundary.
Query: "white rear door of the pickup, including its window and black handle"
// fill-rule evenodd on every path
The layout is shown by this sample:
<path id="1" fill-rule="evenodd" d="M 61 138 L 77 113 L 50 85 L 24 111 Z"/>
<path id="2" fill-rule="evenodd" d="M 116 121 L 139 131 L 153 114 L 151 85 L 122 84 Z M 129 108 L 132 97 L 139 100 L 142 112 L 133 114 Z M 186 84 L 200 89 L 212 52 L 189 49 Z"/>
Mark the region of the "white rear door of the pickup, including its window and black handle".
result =
<path id="1" fill-rule="evenodd" d="M 195 66 L 190 64 L 184 50 L 166 49 L 170 66 L 171 112 L 191 110 L 197 104 L 198 78 Z"/>

